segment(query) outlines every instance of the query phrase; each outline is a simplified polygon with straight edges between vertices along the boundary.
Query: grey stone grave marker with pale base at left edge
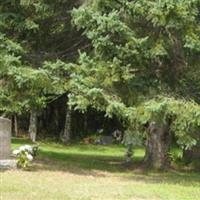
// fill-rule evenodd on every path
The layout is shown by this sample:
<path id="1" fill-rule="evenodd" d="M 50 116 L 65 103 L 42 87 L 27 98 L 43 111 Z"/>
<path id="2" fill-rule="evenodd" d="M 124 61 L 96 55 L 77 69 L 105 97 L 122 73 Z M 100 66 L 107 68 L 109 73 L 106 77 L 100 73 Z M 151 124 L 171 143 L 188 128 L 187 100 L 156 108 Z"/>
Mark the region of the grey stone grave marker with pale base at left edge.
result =
<path id="1" fill-rule="evenodd" d="M 0 168 L 15 167 L 11 159 L 11 121 L 0 117 Z"/>

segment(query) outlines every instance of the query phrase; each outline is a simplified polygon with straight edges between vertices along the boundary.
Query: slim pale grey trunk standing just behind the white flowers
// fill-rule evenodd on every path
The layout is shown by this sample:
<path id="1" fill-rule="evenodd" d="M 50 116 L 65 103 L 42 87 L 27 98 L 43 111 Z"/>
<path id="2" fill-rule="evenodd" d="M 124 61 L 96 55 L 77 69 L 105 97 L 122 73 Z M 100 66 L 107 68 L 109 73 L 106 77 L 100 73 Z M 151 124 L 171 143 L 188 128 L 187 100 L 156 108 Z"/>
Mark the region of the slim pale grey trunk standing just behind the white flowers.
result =
<path id="1" fill-rule="evenodd" d="M 37 112 L 31 111 L 30 113 L 30 122 L 29 122 L 29 137 L 32 142 L 36 141 L 37 136 Z"/>

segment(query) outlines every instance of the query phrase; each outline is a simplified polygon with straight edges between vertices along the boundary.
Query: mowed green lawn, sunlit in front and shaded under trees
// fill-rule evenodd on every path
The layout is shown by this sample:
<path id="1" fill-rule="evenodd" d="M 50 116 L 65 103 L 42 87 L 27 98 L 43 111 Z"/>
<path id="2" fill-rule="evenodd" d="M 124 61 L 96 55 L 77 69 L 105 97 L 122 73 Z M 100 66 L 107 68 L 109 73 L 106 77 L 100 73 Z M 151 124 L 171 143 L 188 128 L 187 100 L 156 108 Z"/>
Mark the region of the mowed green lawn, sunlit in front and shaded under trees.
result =
<path id="1" fill-rule="evenodd" d="M 13 140 L 13 148 L 27 144 Z M 122 146 L 40 142 L 30 171 L 0 172 L 0 200 L 199 200 L 200 174 L 137 169 L 144 151 L 136 149 L 132 169 Z"/>

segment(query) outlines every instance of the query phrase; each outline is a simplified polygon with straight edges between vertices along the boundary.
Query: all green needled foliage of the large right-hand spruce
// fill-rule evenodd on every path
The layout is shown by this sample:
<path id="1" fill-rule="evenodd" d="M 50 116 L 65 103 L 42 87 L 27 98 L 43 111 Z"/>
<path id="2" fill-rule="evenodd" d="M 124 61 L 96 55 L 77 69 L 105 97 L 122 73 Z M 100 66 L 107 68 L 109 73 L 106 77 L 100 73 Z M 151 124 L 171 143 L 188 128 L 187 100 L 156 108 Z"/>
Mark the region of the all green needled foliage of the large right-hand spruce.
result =
<path id="1" fill-rule="evenodd" d="M 74 9 L 92 52 L 80 54 L 70 104 L 116 115 L 133 137 L 148 122 L 170 121 L 181 146 L 195 145 L 199 105 L 182 98 L 198 100 L 199 8 L 199 0 L 98 0 Z"/>

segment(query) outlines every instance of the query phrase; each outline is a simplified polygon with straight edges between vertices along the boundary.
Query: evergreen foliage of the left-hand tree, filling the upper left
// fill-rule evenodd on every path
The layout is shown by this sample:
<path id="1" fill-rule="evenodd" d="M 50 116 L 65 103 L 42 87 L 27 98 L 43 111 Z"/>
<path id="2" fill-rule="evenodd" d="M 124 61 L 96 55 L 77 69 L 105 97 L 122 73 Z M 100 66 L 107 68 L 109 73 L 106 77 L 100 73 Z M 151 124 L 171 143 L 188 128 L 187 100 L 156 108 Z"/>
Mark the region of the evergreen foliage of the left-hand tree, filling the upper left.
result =
<path id="1" fill-rule="evenodd" d="M 69 10 L 78 4 L 78 0 L 1 3 L 1 114 L 40 111 L 68 91 L 70 66 L 59 58 L 72 60 L 82 42 L 74 44 L 72 38 L 79 40 L 80 34 L 70 23 Z"/>

